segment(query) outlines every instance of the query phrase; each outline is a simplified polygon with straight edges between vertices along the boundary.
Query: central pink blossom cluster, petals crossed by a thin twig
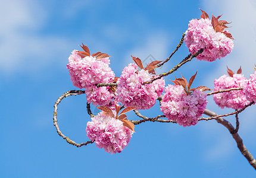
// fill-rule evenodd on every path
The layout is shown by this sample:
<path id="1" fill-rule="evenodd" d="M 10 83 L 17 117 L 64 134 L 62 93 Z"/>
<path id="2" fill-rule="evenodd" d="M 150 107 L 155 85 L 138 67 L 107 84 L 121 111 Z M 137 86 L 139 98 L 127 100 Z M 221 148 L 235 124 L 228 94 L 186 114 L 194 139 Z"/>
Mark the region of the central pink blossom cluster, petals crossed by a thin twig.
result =
<path id="1" fill-rule="evenodd" d="M 154 75 L 144 69 L 138 71 L 138 66 L 130 63 L 123 69 L 117 81 L 118 87 L 115 92 L 117 101 L 125 107 L 137 107 L 138 110 L 154 106 L 155 100 L 164 91 L 165 82 L 163 78 L 160 78 L 151 84 L 143 85 L 153 77 Z"/>

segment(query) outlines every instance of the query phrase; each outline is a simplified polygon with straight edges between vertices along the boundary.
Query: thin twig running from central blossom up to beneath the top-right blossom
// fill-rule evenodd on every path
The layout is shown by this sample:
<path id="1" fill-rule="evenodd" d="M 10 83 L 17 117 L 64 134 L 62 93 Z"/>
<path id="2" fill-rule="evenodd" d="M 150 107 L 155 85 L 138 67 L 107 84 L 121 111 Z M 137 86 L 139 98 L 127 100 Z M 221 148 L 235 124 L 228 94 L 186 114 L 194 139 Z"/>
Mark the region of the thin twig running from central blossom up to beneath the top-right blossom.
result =
<path id="1" fill-rule="evenodd" d="M 196 56 L 198 56 L 199 54 L 201 54 L 203 51 L 204 51 L 204 49 L 201 48 L 201 49 L 199 49 L 198 52 L 196 52 L 194 55 L 189 54 L 185 59 L 182 60 L 182 62 L 180 62 L 179 64 L 177 64 L 176 66 L 174 66 L 173 69 L 171 69 L 170 71 L 168 71 L 168 72 L 166 72 L 166 73 L 163 73 L 163 74 L 158 75 L 158 77 L 155 77 L 155 78 L 153 78 L 153 79 L 150 80 L 150 81 L 144 82 L 143 85 L 145 85 L 145 84 L 151 84 L 151 83 L 152 83 L 153 81 L 155 81 L 155 80 L 158 80 L 158 79 L 160 79 L 160 78 L 162 78 L 162 77 L 165 77 L 165 76 L 167 76 L 167 75 L 172 74 L 174 71 L 177 71 L 177 69 L 179 69 L 182 65 L 184 65 L 185 63 L 191 61 L 193 58 L 195 58 Z"/>

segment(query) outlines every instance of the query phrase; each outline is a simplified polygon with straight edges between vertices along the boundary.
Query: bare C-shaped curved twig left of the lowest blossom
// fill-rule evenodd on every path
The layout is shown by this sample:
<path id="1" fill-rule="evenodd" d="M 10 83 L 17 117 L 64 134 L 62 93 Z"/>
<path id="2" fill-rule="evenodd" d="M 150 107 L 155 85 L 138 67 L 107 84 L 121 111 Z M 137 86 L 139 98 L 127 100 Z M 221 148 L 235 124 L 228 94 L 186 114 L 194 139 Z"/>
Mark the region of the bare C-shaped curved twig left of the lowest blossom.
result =
<path id="1" fill-rule="evenodd" d="M 85 91 L 82 90 L 70 90 L 67 91 L 66 93 L 64 93 L 62 96 L 60 96 L 57 101 L 54 104 L 54 126 L 56 128 L 56 131 L 58 133 L 58 135 L 60 135 L 63 139 L 65 139 L 65 141 L 68 142 L 68 144 L 74 145 L 76 147 L 82 147 L 83 145 L 88 145 L 88 144 L 92 144 L 94 141 L 88 141 L 82 144 L 77 144 L 75 141 L 71 140 L 70 138 L 68 138 L 67 136 L 65 136 L 61 131 L 60 128 L 58 126 L 58 120 L 57 120 L 57 110 L 58 110 L 58 104 L 60 104 L 61 100 L 63 100 L 63 98 L 68 97 L 68 96 L 76 96 L 76 95 L 80 95 L 80 94 L 84 94 Z"/>

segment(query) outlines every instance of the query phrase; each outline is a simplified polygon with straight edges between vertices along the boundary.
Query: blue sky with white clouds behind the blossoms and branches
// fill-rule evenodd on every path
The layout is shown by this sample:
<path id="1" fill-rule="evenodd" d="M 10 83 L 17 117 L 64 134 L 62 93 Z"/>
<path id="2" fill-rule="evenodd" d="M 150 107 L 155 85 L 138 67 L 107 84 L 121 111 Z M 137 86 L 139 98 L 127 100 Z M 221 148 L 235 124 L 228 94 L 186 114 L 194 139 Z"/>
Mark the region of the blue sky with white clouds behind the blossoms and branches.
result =
<path id="1" fill-rule="evenodd" d="M 168 58 L 201 11 L 231 21 L 233 52 L 215 62 L 193 59 L 170 77 L 190 78 L 194 87 L 214 87 L 226 66 L 242 66 L 246 78 L 254 72 L 256 1 L 0 1 L 0 177 L 256 177 L 224 126 L 215 120 L 183 128 L 173 123 L 136 125 L 128 147 L 108 154 L 95 144 L 76 148 L 58 136 L 53 125 L 54 103 L 68 90 L 68 56 L 84 43 L 90 52 L 105 52 L 116 76 L 132 62 Z M 189 54 L 183 44 L 168 71 Z M 219 109 L 212 97 L 207 108 Z M 58 123 L 64 135 L 81 143 L 86 136 L 86 96 L 61 101 Z M 256 106 L 239 115 L 241 135 L 256 157 Z M 98 110 L 92 106 L 92 112 Z M 161 115 L 159 104 L 146 116 Z M 137 120 L 133 112 L 131 120 Z M 235 123 L 235 116 L 226 118 Z"/>

